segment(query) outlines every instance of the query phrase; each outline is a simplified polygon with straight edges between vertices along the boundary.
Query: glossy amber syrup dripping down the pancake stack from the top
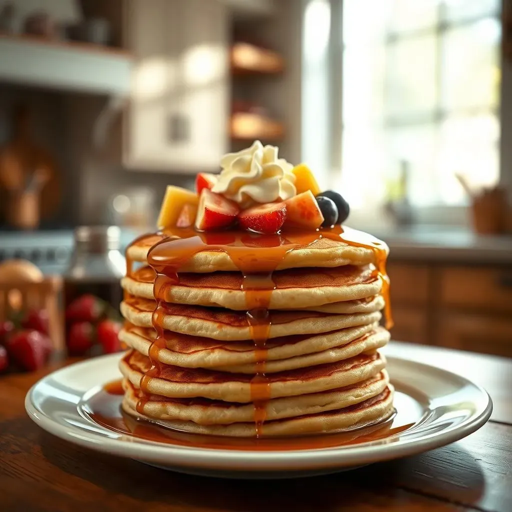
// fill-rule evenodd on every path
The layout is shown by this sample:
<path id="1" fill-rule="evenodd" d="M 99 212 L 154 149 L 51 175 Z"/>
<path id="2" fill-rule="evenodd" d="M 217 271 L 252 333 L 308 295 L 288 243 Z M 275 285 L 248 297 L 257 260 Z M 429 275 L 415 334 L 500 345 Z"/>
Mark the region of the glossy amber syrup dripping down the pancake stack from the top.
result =
<path id="1" fill-rule="evenodd" d="M 174 228 L 158 233 L 160 241 L 151 247 L 147 254 L 147 263 L 156 272 L 153 291 L 157 307 L 153 313 L 153 327 L 156 339 L 149 349 L 151 369 L 141 379 L 141 396 L 137 403 L 137 412 L 143 414 L 144 405 L 150 394 L 148 384 L 152 378 L 161 374 L 159 352 L 166 347 L 163 335 L 163 302 L 169 295 L 170 287 L 179 283 L 178 272 L 186 266 L 194 255 L 202 251 L 222 251 L 242 272 L 241 289 L 246 300 L 247 323 L 255 345 L 256 371 L 251 381 L 251 400 L 254 403 L 254 421 L 256 437 L 262 435 L 266 417 L 266 405 L 270 399 L 270 385 L 265 377 L 267 359 L 266 342 L 271 327 L 269 314 L 270 298 L 275 288 L 272 272 L 280 265 L 285 255 L 297 248 L 308 247 L 322 238 L 341 240 L 354 247 L 371 249 L 375 254 L 374 278 L 382 282 L 382 295 L 385 298 L 386 327 L 393 325 L 389 301 L 389 279 L 386 273 L 387 251 L 373 237 L 361 231 L 333 226 L 310 232 L 290 232 L 284 234 L 258 234 L 247 231 L 198 232 L 193 228 Z M 144 239 L 140 237 L 132 245 Z M 127 264 L 132 272 L 132 265 Z"/>

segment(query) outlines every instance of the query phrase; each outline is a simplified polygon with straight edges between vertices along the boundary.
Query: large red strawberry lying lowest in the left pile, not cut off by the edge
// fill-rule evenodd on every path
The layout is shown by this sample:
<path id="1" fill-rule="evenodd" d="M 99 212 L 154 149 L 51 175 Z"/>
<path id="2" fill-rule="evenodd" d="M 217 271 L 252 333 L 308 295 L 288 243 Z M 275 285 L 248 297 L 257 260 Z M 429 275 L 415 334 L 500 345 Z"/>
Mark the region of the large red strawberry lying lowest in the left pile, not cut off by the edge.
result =
<path id="1" fill-rule="evenodd" d="M 52 343 L 48 336 L 32 329 L 12 334 L 6 348 L 19 367 L 33 372 L 45 366 L 52 351 Z"/>

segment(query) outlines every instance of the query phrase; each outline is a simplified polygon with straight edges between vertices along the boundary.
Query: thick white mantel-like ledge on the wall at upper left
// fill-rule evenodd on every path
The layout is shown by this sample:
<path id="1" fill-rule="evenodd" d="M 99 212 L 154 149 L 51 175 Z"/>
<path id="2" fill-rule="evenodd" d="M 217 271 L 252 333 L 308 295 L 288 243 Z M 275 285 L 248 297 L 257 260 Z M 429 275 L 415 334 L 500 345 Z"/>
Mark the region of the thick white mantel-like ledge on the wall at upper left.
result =
<path id="1" fill-rule="evenodd" d="M 56 90 L 125 95 L 132 56 L 122 49 L 0 33 L 0 80 Z"/>

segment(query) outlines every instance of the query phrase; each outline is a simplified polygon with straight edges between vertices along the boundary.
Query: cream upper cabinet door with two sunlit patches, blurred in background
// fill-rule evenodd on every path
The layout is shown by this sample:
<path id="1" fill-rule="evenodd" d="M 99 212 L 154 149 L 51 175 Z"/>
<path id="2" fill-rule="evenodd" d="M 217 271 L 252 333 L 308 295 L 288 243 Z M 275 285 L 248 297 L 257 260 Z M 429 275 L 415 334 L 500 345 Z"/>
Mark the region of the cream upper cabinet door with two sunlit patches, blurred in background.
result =
<path id="1" fill-rule="evenodd" d="M 227 148 L 228 17 L 211 0 L 130 0 L 135 56 L 124 119 L 129 167 L 197 172 Z"/>

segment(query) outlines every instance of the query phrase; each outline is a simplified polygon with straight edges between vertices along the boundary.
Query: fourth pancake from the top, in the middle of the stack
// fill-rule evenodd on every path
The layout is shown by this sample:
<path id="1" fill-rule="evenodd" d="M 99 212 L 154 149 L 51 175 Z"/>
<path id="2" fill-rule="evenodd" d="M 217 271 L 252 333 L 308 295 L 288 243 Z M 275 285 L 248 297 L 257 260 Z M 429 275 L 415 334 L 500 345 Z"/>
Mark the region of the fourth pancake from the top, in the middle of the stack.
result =
<path id="1" fill-rule="evenodd" d="M 137 327 L 122 329 L 119 333 L 122 342 L 143 355 L 148 355 L 155 336 L 153 329 Z M 389 337 L 386 329 L 377 327 L 377 324 L 369 324 L 313 336 L 306 334 L 273 338 L 265 346 L 265 373 L 347 359 L 386 345 Z M 258 360 L 258 354 L 252 341 L 218 342 L 170 331 L 164 333 L 164 338 L 167 348 L 158 351 L 158 360 L 165 365 L 255 373 L 254 363 Z M 345 347 L 345 350 L 339 350 L 341 347 Z M 301 358 L 310 354 L 319 354 L 320 359 Z"/>

